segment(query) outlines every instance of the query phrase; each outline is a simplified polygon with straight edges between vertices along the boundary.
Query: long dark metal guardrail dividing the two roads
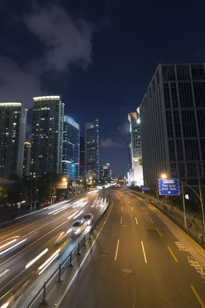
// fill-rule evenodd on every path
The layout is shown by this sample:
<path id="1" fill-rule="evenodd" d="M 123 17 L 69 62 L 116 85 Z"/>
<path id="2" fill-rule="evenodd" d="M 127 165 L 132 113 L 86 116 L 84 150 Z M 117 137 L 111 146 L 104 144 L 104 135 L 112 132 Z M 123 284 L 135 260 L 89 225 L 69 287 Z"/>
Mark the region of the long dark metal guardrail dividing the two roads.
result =
<path id="1" fill-rule="evenodd" d="M 66 271 L 67 267 L 73 266 L 72 261 L 74 260 L 74 258 L 77 255 L 80 255 L 80 249 L 83 246 L 86 246 L 86 242 L 88 240 L 91 240 L 91 235 L 93 234 L 94 229 L 96 229 L 96 227 L 99 225 L 100 220 L 102 220 L 104 218 L 104 216 L 106 216 L 106 214 L 108 213 L 108 210 L 109 210 L 110 204 L 111 204 L 111 202 L 110 202 L 111 198 L 110 198 L 109 195 L 107 195 L 107 198 L 109 200 L 107 207 L 105 208 L 103 213 L 100 215 L 100 217 L 96 220 L 96 222 L 93 224 L 90 231 L 86 235 L 84 235 L 83 239 L 81 239 L 81 241 L 78 242 L 78 244 L 70 252 L 68 257 L 61 264 L 59 264 L 56 271 L 49 277 L 49 279 L 46 282 L 44 282 L 44 285 L 42 286 L 42 288 L 40 288 L 40 290 L 35 295 L 35 297 L 32 299 L 32 301 L 27 306 L 27 308 L 38 308 L 40 304 L 46 304 L 46 297 L 49 294 L 49 292 L 51 291 L 54 284 L 56 282 L 62 281 L 61 276 Z"/>

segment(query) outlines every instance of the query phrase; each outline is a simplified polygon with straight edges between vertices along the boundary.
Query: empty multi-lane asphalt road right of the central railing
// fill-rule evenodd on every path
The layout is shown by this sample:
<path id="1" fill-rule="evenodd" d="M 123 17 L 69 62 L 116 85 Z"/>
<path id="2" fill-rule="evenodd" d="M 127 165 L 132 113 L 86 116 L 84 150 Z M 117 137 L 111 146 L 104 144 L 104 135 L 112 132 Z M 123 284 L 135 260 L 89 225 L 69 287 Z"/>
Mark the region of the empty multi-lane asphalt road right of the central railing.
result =
<path id="1" fill-rule="evenodd" d="M 93 253 L 49 308 L 205 308 L 205 271 L 189 247 L 139 197 L 109 194 L 112 210 Z"/>

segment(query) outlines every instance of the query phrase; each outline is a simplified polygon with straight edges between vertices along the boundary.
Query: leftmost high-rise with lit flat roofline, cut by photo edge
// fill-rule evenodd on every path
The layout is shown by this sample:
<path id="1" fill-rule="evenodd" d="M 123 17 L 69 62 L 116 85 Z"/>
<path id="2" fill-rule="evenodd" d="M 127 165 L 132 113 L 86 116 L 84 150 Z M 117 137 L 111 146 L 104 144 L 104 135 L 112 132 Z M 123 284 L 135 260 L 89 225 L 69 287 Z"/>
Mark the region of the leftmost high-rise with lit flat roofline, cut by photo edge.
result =
<path id="1" fill-rule="evenodd" d="M 21 103 L 0 103 L 1 178 L 22 178 L 27 111 Z"/>

